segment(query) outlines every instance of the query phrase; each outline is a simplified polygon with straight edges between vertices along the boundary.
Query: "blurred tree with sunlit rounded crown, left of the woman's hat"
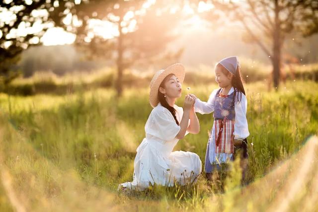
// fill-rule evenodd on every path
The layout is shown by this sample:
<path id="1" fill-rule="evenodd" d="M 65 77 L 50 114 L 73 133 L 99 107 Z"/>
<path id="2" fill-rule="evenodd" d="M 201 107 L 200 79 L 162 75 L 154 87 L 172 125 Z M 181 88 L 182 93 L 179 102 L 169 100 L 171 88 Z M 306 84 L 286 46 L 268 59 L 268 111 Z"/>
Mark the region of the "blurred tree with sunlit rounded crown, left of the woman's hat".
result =
<path id="1" fill-rule="evenodd" d="M 152 61 L 166 51 L 166 45 L 175 35 L 173 27 L 180 20 L 177 13 L 169 13 L 164 2 L 144 6 L 146 0 L 89 0 L 76 5 L 73 12 L 73 23 L 77 34 L 76 43 L 84 48 L 91 57 L 102 57 L 116 61 L 116 91 L 121 96 L 123 91 L 123 71 L 132 65 Z M 93 23 L 95 23 L 95 26 Z M 108 33 L 96 32 L 96 25 L 108 24 Z M 112 24 L 112 26 L 111 26 Z M 104 32 L 105 32 L 104 31 Z M 174 58 L 180 55 L 176 51 Z"/>

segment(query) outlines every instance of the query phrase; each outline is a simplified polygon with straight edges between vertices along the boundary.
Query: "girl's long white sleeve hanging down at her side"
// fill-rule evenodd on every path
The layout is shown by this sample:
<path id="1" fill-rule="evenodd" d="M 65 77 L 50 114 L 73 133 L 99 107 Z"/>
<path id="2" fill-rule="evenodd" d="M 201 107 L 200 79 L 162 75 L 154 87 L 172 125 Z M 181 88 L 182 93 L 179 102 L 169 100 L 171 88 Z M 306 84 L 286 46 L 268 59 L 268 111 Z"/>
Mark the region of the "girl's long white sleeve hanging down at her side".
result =
<path id="1" fill-rule="evenodd" d="M 241 95 L 241 100 L 235 101 L 235 124 L 234 124 L 234 139 L 246 139 L 249 136 L 248 124 L 246 119 L 246 109 L 247 109 L 247 100 L 246 96 L 243 93 Z"/>

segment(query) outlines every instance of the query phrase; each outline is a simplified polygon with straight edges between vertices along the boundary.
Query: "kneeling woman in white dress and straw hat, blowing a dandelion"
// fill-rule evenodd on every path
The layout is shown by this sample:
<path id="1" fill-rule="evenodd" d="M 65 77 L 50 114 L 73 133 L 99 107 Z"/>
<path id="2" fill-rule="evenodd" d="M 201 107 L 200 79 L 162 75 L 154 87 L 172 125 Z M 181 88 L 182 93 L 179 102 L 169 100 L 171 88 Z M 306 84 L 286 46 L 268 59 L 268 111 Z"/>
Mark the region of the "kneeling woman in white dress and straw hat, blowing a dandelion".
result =
<path id="1" fill-rule="evenodd" d="M 193 152 L 173 151 L 186 134 L 200 131 L 194 112 L 194 98 L 187 95 L 183 108 L 174 103 L 181 97 L 184 67 L 174 64 L 158 71 L 150 89 L 150 104 L 154 108 L 147 120 L 146 138 L 137 148 L 134 180 L 119 185 L 122 189 L 144 190 L 152 185 L 173 186 L 193 182 L 201 173 L 201 160 Z"/>

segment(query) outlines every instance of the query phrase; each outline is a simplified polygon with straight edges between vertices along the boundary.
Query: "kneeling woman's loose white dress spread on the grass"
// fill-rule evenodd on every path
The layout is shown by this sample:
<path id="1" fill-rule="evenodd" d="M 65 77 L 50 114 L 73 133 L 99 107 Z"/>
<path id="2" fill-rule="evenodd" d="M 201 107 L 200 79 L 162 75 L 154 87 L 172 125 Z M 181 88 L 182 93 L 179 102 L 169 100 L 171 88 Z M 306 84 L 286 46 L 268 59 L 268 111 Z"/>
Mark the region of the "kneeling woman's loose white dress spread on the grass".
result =
<path id="1" fill-rule="evenodd" d="M 174 108 L 180 123 L 183 108 L 176 105 Z M 175 137 L 180 131 L 180 126 L 175 123 L 168 109 L 159 103 L 152 110 L 145 131 L 146 138 L 137 148 L 133 182 L 122 183 L 121 187 L 144 190 L 150 183 L 173 186 L 174 182 L 184 185 L 197 179 L 202 169 L 200 157 L 188 151 L 172 152 L 179 141 Z"/>

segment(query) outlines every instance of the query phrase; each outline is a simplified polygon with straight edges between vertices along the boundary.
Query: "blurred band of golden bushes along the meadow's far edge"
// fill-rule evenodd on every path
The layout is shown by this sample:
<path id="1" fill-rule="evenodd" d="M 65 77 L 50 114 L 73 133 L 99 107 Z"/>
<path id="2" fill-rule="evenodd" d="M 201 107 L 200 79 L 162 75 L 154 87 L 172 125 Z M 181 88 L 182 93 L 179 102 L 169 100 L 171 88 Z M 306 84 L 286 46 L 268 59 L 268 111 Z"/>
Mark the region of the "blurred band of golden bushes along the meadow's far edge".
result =
<path id="1" fill-rule="evenodd" d="M 263 82 L 267 84 L 271 83 L 271 66 L 246 58 L 240 58 L 240 66 L 242 70 L 241 76 L 245 82 L 253 83 L 264 80 Z M 214 67 L 212 66 L 186 67 L 186 71 L 185 81 L 190 86 L 197 84 L 208 86 L 215 78 Z M 318 64 L 286 65 L 282 71 L 286 74 L 287 79 L 318 81 Z M 29 78 L 15 78 L 7 87 L 0 82 L 0 92 L 22 96 L 36 94 L 65 95 L 74 93 L 81 88 L 85 90 L 111 88 L 115 85 L 116 73 L 116 69 L 113 67 L 91 72 L 71 72 L 63 76 L 58 76 L 49 71 L 35 72 Z M 129 88 L 147 87 L 153 74 L 154 70 L 151 69 L 125 70 L 122 82 Z M 271 88 L 271 85 L 269 85 L 269 88 Z"/>

